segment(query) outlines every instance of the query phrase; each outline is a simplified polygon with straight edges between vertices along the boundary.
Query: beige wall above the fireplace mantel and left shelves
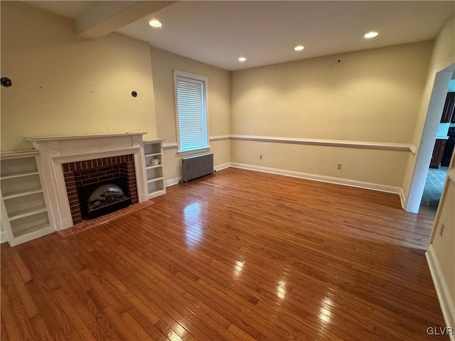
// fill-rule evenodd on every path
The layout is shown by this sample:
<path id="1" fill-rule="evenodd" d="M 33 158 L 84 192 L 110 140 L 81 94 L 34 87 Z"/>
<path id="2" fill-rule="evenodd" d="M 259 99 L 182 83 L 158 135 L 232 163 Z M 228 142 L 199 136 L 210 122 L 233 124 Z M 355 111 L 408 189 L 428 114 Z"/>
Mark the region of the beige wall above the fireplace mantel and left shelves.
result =
<path id="1" fill-rule="evenodd" d="M 1 1 L 1 150 L 25 136 L 146 131 L 156 137 L 147 43 L 115 33 L 75 35 L 68 18 Z M 138 92 L 138 97 L 131 95 Z"/>

